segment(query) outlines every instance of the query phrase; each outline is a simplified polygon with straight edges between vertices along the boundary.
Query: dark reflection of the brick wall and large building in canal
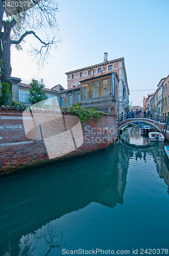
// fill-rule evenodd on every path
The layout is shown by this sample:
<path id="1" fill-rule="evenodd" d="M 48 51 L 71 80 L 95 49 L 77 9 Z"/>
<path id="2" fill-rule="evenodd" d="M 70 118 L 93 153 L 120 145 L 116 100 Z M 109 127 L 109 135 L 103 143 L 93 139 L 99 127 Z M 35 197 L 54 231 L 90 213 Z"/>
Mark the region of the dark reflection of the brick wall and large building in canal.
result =
<path id="1" fill-rule="evenodd" d="M 22 236 L 20 253 L 33 250 L 30 240 L 40 237 L 39 232 L 46 230 L 43 225 L 91 202 L 111 208 L 123 204 L 128 161 L 123 148 L 111 146 L 104 152 L 1 179 L 1 250 L 10 243 L 11 252 L 18 255 Z"/>

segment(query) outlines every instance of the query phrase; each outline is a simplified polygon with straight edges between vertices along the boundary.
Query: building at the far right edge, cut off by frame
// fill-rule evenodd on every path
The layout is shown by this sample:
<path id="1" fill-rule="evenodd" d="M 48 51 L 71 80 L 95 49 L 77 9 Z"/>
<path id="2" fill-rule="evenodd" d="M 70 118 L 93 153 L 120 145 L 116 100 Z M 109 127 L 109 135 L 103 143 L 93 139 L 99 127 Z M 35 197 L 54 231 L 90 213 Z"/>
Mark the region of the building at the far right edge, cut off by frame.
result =
<path id="1" fill-rule="evenodd" d="M 169 75 L 162 83 L 162 116 L 169 116 Z"/>

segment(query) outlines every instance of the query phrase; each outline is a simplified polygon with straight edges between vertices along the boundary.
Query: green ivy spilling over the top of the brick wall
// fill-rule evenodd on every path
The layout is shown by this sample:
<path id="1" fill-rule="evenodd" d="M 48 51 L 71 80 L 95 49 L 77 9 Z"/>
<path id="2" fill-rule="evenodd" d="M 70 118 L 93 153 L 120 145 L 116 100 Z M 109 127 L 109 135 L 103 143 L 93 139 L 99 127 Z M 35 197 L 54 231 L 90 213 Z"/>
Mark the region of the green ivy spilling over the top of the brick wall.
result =
<path id="1" fill-rule="evenodd" d="M 80 108 L 77 105 L 63 107 L 61 108 L 61 111 L 78 116 L 80 121 L 82 122 L 87 122 L 90 119 L 94 121 L 100 120 L 101 117 L 105 114 L 102 111 L 96 111 L 96 110 L 87 109 L 87 108 Z"/>

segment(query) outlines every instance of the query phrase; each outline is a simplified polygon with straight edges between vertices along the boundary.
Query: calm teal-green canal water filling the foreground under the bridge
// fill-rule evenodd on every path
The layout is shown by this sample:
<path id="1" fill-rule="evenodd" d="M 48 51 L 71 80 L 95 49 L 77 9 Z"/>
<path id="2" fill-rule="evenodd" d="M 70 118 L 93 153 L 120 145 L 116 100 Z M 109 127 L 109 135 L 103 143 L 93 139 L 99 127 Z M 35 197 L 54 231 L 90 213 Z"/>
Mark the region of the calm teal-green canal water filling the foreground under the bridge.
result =
<path id="1" fill-rule="evenodd" d="M 128 131 L 105 151 L 1 178 L 0 255 L 168 254 L 169 161 Z"/>

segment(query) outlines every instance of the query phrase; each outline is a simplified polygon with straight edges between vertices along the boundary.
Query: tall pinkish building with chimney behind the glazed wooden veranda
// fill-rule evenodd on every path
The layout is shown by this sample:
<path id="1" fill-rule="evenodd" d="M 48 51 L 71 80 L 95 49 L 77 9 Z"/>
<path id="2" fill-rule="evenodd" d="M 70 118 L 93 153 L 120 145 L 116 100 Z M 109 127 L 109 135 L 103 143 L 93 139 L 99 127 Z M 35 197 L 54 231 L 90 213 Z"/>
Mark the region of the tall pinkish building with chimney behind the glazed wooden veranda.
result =
<path id="1" fill-rule="evenodd" d="M 124 58 L 108 61 L 107 53 L 104 53 L 104 61 L 102 63 L 65 73 L 67 75 L 68 89 L 79 86 L 83 80 L 113 72 L 116 72 L 119 76 L 117 112 L 126 114 L 129 110 L 129 88 Z"/>

